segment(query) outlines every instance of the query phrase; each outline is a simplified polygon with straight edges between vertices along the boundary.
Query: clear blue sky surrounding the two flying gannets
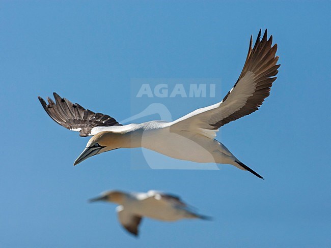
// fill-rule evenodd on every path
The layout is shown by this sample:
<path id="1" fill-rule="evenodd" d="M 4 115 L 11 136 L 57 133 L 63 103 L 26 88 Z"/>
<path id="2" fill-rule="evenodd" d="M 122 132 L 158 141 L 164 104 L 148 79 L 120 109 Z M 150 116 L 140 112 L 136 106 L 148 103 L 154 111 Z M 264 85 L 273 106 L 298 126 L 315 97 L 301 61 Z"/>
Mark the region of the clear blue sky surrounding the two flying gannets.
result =
<path id="1" fill-rule="evenodd" d="M 329 2 L 0 7 L 0 246 L 329 247 Z M 224 126 L 217 138 L 264 181 L 227 165 L 137 169 L 129 149 L 73 167 L 88 139 L 56 125 L 37 99 L 56 91 L 123 120 L 144 107 L 132 107 L 133 79 L 221 80 L 218 98 L 168 99 L 178 118 L 224 97 L 260 28 L 279 45 L 278 79 L 259 111 Z M 118 224 L 115 205 L 87 203 L 108 189 L 178 194 L 214 221 L 144 220 L 135 239 Z"/>

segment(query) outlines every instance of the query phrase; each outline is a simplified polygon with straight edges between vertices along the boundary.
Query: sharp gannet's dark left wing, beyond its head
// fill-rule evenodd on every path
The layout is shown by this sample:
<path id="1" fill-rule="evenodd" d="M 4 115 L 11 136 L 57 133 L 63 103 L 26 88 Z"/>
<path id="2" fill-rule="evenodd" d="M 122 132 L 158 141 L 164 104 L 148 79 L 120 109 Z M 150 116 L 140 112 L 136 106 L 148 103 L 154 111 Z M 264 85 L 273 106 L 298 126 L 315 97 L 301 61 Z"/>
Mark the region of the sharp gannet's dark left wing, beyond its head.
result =
<path id="1" fill-rule="evenodd" d="M 71 131 L 79 132 L 81 137 L 89 136 L 95 127 L 122 126 L 113 117 L 94 113 L 91 110 L 73 104 L 65 98 L 61 98 L 56 92 L 53 93 L 55 103 L 49 97 L 48 104 L 38 97 L 47 114 L 58 124 Z"/>

